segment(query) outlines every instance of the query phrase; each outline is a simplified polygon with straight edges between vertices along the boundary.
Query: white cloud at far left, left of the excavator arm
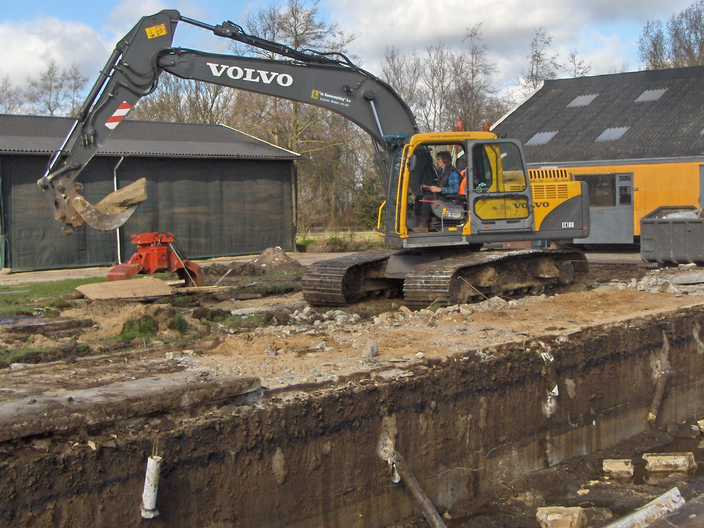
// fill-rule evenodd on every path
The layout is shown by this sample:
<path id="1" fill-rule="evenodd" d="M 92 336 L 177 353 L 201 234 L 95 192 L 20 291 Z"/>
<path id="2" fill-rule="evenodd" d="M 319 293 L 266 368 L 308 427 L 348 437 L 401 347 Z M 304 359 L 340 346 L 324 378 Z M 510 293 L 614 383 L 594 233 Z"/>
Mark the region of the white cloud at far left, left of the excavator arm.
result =
<path id="1" fill-rule="evenodd" d="M 84 23 L 58 18 L 29 21 L 5 20 L 0 23 L 0 77 L 9 75 L 15 84 L 24 84 L 27 75 L 37 77 L 54 59 L 61 68 L 80 65 L 92 79 L 110 56 L 111 44 Z"/>

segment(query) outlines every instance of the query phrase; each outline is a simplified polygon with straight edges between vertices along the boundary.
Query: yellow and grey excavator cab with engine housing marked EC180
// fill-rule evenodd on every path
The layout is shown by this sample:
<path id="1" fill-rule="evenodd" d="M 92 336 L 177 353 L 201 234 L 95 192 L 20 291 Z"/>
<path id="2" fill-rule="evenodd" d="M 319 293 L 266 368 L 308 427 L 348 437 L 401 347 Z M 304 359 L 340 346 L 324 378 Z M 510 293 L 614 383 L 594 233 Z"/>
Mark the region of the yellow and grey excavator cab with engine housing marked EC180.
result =
<path id="1" fill-rule="evenodd" d="M 437 177 L 430 161 L 443 150 L 452 154 L 462 175 L 460 190 L 429 198 L 420 185 Z M 396 168 L 386 199 L 384 241 L 389 246 L 555 240 L 588 234 L 586 189 L 571 175 L 562 175 L 564 171 L 557 179 L 555 171 L 532 170 L 529 175 L 522 146 L 515 139 L 501 139 L 492 132 L 415 134 L 398 151 Z M 540 200 L 534 200 L 533 189 Z M 431 202 L 434 219 L 428 232 L 414 231 L 419 196 Z"/>

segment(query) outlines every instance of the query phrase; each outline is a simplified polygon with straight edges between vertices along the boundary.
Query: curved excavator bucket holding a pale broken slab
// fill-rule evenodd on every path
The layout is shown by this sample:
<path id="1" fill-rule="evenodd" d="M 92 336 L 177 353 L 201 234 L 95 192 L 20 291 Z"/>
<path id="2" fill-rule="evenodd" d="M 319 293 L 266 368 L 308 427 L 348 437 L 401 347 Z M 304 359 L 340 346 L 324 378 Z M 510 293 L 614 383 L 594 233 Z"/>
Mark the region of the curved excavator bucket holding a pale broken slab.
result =
<path id="1" fill-rule="evenodd" d="M 96 230 L 110 231 L 122 226 L 139 204 L 146 200 L 146 180 L 142 178 L 108 194 L 92 206 L 83 196 L 73 199 L 76 212 Z"/>

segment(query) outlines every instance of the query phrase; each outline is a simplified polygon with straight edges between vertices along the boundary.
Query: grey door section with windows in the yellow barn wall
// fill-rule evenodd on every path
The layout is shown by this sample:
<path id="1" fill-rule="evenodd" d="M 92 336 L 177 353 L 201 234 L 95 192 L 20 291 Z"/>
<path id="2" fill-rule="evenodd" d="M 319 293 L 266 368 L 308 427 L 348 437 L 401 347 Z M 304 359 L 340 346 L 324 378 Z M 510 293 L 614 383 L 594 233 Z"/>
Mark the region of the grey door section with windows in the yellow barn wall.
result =
<path id="1" fill-rule="evenodd" d="M 633 244 L 633 174 L 575 175 L 589 187 L 589 237 L 574 244 Z"/>

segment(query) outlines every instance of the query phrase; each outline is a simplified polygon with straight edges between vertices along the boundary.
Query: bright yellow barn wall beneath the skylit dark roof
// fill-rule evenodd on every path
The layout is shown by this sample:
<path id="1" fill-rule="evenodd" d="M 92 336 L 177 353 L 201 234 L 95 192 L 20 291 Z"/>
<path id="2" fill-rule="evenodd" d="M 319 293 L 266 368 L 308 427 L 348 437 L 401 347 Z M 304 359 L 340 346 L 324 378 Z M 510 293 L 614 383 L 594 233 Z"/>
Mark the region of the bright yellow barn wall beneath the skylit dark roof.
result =
<path id="1" fill-rule="evenodd" d="M 574 175 L 633 173 L 633 234 L 639 236 L 641 218 L 655 208 L 699 207 L 699 165 L 699 163 L 649 163 L 648 165 L 565 167 L 565 169 Z"/>

